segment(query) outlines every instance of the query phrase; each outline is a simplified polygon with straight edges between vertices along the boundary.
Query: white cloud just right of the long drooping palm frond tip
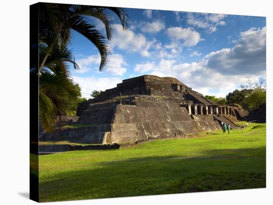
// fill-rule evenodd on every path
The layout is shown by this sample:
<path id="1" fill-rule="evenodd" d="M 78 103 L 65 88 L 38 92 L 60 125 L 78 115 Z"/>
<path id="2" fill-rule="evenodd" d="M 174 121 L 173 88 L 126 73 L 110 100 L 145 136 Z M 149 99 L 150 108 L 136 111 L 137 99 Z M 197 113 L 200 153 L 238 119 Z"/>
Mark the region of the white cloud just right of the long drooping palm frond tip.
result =
<path id="1" fill-rule="evenodd" d="M 147 41 L 143 34 L 136 34 L 134 31 L 128 29 L 123 31 L 122 25 L 114 25 L 115 35 L 111 40 L 112 48 L 119 48 L 129 52 L 139 52 L 142 56 L 149 56 L 148 49 L 151 47 L 151 43 L 155 42 Z"/>

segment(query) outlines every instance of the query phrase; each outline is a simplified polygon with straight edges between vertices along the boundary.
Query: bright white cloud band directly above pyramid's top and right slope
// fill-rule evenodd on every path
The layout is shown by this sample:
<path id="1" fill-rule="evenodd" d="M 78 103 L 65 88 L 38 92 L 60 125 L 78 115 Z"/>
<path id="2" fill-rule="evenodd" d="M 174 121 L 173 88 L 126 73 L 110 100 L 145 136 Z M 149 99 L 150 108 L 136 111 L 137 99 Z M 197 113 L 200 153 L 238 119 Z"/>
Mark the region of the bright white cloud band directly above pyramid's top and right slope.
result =
<path id="1" fill-rule="evenodd" d="M 144 62 L 137 64 L 138 68 L 147 67 L 148 69 L 135 69 L 135 71 L 160 77 L 175 77 L 195 91 L 204 95 L 216 95 L 217 97 L 224 97 L 228 92 L 237 89 L 240 84 L 248 79 L 245 76 L 226 76 L 213 72 L 213 70 L 206 67 L 206 64 L 206 60 L 177 63 L 175 60 L 162 59 L 159 63 Z"/>

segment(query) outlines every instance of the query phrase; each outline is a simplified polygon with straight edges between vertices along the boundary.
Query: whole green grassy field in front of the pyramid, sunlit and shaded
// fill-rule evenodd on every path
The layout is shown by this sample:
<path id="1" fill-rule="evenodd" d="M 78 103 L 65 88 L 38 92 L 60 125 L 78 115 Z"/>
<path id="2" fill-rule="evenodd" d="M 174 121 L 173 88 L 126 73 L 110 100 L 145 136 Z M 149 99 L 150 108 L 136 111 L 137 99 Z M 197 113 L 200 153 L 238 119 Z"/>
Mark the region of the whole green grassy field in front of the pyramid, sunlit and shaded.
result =
<path id="1" fill-rule="evenodd" d="M 266 187 L 266 124 L 221 133 L 40 155 L 40 201 Z"/>

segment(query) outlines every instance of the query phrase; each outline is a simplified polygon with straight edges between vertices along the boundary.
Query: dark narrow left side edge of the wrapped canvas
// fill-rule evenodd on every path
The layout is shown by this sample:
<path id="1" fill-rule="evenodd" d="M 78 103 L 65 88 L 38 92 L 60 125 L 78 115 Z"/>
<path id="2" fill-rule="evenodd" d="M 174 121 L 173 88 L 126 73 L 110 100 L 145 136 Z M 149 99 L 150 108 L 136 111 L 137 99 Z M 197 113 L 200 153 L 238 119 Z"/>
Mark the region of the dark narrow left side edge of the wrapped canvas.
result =
<path id="1" fill-rule="evenodd" d="M 30 199 L 39 202 L 39 4 L 30 5 Z"/>

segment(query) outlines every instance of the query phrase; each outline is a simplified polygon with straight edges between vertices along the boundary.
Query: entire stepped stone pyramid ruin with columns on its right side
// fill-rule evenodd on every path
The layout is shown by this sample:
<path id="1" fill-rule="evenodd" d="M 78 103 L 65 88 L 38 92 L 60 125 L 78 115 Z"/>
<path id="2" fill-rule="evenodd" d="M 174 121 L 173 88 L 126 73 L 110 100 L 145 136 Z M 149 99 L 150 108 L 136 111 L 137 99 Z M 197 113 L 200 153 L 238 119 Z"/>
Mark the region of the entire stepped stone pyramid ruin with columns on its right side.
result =
<path id="1" fill-rule="evenodd" d="M 248 115 L 240 105 L 216 104 L 176 78 L 143 75 L 123 80 L 78 106 L 69 123 L 84 127 L 56 129 L 40 140 L 90 144 L 134 143 L 221 129 L 236 129 Z M 89 126 L 88 126 L 89 125 Z"/>

